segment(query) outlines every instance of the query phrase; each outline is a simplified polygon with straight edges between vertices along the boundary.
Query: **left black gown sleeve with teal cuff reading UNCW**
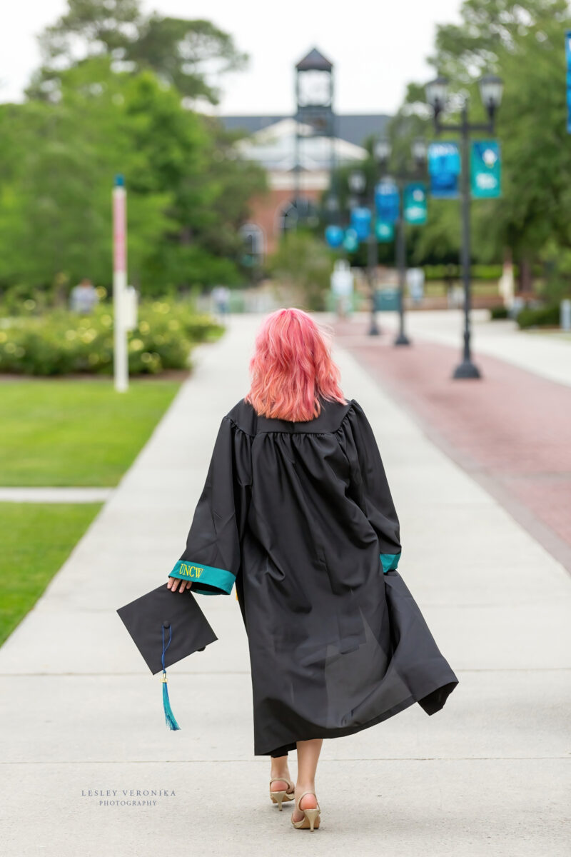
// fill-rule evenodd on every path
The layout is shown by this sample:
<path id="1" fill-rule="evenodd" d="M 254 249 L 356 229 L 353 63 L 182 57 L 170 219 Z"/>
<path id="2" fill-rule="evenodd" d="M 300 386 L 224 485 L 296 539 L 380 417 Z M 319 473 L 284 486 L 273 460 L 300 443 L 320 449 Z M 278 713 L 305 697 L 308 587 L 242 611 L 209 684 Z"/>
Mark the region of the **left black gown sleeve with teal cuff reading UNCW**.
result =
<path id="1" fill-rule="evenodd" d="M 187 547 L 169 577 L 201 595 L 229 595 L 241 567 L 241 535 L 251 473 L 250 438 L 227 416 L 214 444 Z"/>

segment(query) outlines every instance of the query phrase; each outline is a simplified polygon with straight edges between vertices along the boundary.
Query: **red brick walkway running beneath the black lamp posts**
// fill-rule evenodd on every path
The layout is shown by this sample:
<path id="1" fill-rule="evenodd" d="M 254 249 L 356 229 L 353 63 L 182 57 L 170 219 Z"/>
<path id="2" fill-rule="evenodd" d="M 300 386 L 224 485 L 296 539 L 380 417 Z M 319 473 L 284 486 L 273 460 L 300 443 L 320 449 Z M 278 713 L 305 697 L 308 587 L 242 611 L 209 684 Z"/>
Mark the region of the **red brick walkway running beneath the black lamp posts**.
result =
<path id="1" fill-rule="evenodd" d="M 452 458 L 571 571 L 571 387 L 494 357 L 479 381 L 453 381 L 458 349 L 340 321 L 336 339 Z"/>

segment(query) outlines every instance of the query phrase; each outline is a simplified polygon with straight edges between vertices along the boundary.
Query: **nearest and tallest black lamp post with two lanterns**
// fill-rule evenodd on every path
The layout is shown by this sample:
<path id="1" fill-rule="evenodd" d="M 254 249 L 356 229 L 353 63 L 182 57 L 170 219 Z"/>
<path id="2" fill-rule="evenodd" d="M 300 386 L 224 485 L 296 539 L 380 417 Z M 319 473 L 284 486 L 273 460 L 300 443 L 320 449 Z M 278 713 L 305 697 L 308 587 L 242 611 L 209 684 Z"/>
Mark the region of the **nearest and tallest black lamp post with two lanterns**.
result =
<path id="1" fill-rule="evenodd" d="M 479 94 L 488 115 L 486 123 L 470 123 L 468 120 L 468 99 L 465 98 L 460 115 L 460 123 L 441 123 L 440 115 L 446 107 L 448 81 L 445 77 L 437 77 L 435 81 L 426 84 L 426 101 L 434 113 L 434 128 L 437 134 L 442 131 L 455 131 L 461 138 L 461 261 L 462 283 L 464 286 L 464 348 L 461 363 L 456 366 L 453 378 L 480 378 L 478 367 L 472 361 L 470 350 L 471 321 L 470 309 L 472 304 L 470 279 L 470 135 L 473 131 L 494 133 L 494 120 L 497 109 L 502 103 L 503 81 L 497 75 L 484 75 L 479 80 Z"/>

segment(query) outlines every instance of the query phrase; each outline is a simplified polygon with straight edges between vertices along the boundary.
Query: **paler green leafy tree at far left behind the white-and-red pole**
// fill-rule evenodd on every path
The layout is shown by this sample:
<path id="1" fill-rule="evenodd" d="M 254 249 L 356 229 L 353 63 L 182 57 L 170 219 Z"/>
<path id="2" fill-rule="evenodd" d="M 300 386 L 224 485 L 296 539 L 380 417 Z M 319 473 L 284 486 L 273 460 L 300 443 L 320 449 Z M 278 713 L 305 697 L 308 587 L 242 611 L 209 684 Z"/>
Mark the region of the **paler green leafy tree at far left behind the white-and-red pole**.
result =
<path id="1" fill-rule="evenodd" d="M 62 78 L 58 105 L 2 105 L 0 133 L 18 147 L 18 159 L 3 158 L 0 195 L 0 280 L 49 285 L 58 273 L 70 280 L 90 276 L 110 283 L 110 189 L 118 171 L 136 176 L 148 169 L 144 153 L 131 146 L 125 122 L 128 88 L 135 81 L 114 75 L 105 60 L 90 85 L 89 66 Z M 128 199 L 129 264 L 135 278 L 149 248 L 168 231 L 170 194 L 164 189 Z"/>

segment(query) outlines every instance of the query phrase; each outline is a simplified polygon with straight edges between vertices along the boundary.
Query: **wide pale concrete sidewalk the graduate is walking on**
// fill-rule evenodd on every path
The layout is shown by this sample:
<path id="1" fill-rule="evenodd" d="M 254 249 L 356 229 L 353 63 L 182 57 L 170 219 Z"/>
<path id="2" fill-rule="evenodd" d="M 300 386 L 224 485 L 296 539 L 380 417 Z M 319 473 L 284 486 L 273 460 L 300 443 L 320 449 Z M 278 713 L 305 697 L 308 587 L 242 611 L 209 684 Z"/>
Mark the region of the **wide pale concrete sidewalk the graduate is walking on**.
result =
<path id="1" fill-rule="evenodd" d="M 201 351 L 132 469 L 0 650 L 2 854 L 568 854 L 568 575 L 344 351 L 343 388 L 376 429 L 401 518 L 401 574 L 460 685 L 435 716 L 415 705 L 324 742 L 323 820 L 310 841 L 289 808 L 271 806 L 269 763 L 253 757 L 234 594 L 201 598 L 219 639 L 170 668 L 182 728 L 165 727 L 160 676 L 115 610 L 165 580 L 181 554 L 220 419 L 247 390 L 259 321 L 233 318 Z M 175 794 L 122 794 L 152 789 Z"/>

